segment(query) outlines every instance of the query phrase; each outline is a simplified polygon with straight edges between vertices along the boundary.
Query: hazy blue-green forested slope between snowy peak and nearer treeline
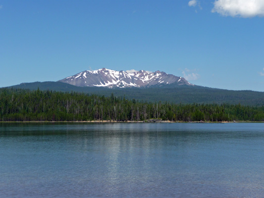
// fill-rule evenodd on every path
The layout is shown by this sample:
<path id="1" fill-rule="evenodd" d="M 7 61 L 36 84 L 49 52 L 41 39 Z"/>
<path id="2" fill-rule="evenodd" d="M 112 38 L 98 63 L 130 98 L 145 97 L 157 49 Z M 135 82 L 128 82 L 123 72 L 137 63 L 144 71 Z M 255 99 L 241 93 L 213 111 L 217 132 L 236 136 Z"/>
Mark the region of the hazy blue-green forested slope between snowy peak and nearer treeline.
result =
<path id="1" fill-rule="evenodd" d="M 264 105 L 264 92 L 254 91 L 231 91 L 213 89 L 201 86 L 177 86 L 177 87 L 150 87 L 150 88 L 97 88 L 76 87 L 61 82 L 35 82 L 22 83 L 10 88 L 21 88 L 29 90 L 53 90 L 61 92 L 80 92 L 96 95 L 110 96 L 111 93 L 117 97 L 127 99 L 138 99 L 143 101 L 161 101 L 173 103 L 229 103 L 241 105 Z"/>

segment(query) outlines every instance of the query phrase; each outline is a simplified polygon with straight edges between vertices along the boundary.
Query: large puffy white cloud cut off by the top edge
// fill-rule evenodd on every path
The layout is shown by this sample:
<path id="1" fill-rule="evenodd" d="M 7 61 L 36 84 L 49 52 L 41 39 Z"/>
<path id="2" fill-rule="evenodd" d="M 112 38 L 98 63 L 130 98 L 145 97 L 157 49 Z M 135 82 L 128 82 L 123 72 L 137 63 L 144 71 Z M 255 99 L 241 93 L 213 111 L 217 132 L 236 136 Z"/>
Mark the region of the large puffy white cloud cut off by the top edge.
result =
<path id="1" fill-rule="evenodd" d="M 264 0 L 215 0 L 212 12 L 224 16 L 264 16 Z"/>

